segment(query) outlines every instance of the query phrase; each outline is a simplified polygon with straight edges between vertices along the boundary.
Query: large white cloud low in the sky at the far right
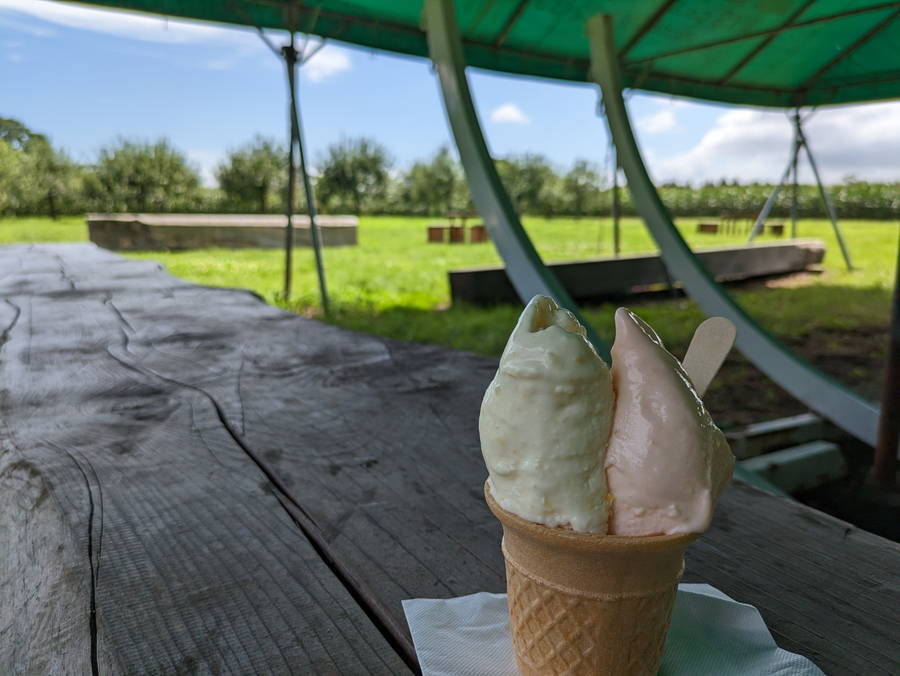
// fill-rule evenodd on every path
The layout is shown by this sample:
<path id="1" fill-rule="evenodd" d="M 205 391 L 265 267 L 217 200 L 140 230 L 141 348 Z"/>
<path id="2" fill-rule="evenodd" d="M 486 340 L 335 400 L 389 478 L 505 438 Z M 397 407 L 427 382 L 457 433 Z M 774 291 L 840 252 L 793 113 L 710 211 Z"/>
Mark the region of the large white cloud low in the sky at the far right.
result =
<path id="1" fill-rule="evenodd" d="M 900 103 L 824 108 L 804 126 L 822 178 L 835 183 L 848 175 L 866 180 L 900 179 Z M 791 143 L 791 124 L 782 111 L 731 110 L 687 152 L 653 163 L 659 181 L 699 183 L 720 178 L 777 181 Z M 800 180 L 813 180 L 805 155 Z"/>

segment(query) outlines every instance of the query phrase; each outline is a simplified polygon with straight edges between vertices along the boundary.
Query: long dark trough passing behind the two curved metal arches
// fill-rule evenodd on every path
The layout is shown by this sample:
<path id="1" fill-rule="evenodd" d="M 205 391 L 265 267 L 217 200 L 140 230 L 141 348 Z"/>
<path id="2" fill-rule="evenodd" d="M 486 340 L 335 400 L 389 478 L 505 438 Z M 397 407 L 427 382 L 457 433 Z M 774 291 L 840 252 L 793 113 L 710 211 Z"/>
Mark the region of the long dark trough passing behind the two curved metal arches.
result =
<path id="1" fill-rule="evenodd" d="M 814 239 L 793 240 L 695 253 L 717 281 L 733 282 L 808 270 L 824 259 L 825 244 Z M 659 255 L 594 258 L 550 263 L 547 267 L 569 294 L 581 302 L 652 290 L 669 281 Z M 502 266 L 451 270 L 448 275 L 454 303 L 519 302 Z"/>

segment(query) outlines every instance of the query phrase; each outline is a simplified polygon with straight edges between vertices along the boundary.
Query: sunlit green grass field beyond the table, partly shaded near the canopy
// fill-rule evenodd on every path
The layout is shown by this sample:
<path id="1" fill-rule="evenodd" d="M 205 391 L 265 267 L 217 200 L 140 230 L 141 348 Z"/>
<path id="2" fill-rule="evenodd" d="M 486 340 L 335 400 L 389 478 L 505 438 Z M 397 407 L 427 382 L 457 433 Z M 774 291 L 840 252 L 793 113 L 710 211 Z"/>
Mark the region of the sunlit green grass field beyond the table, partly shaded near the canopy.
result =
<path id="1" fill-rule="evenodd" d="M 426 244 L 429 219 L 362 218 L 359 246 L 326 249 L 328 288 L 334 311 L 328 318 L 341 326 L 405 340 L 450 345 L 487 355 L 499 355 L 518 313 L 517 308 L 451 308 L 447 271 L 500 263 L 494 247 L 485 244 Z M 682 226 L 694 247 L 742 243 L 741 236 L 698 235 L 693 220 Z M 535 219 L 525 226 L 545 261 L 608 256 L 612 233 L 608 221 Z M 859 270 L 848 273 L 824 221 L 804 221 L 801 235 L 823 239 L 828 247 L 825 274 L 810 280 L 813 289 L 828 293 L 798 293 L 796 289 L 738 291 L 738 299 L 753 315 L 778 333 L 796 335 L 811 328 L 841 328 L 883 322 L 893 281 L 897 226 L 879 222 L 847 222 L 846 236 Z M 625 253 L 654 251 L 637 219 L 622 227 Z M 304 314 L 318 315 L 318 287 L 308 249 L 295 253 L 294 296 L 281 298 L 283 254 L 272 250 L 216 250 L 131 254 L 164 263 L 175 275 L 214 286 L 242 286 L 264 298 Z M 808 289 L 808 287 L 803 287 Z M 854 293 L 859 290 L 861 293 Z M 871 291 L 872 293 L 868 293 Z M 848 296 L 835 306 L 835 295 Z M 803 296 L 801 303 L 792 298 Z M 800 300 L 797 298 L 797 300 Z M 642 303 L 643 312 L 674 345 L 689 338 L 700 313 L 691 303 Z M 434 312 L 434 310 L 442 310 Z M 590 309 L 588 317 L 609 335 L 615 308 Z"/>

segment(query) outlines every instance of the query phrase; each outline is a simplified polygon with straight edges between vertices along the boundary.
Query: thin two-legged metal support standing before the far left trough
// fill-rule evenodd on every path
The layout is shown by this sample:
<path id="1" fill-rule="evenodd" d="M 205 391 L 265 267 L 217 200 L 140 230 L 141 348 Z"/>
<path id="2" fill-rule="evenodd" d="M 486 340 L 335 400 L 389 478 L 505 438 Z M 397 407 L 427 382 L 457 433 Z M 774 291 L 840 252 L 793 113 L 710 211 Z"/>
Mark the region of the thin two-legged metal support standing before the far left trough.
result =
<path id="1" fill-rule="evenodd" d="M 306 153 L 303 147 L 303 126 L 300 123 L 300 109 L 297 102 L 296 66 L 298 57 L 297 50 L 294 48 L 293 32 L 291 32 L 291 44 L 282 47 L 281 51 L 284 54 L 284 61 L 288 69 L 288 89 L 290 91 L 291 105 L 291 145 L 288 149 L 288 204 L 287 229 L 285 231 L 284 295 L 285 299 L 288 299 L 291 293 L 292 250 L 294 246 L 294 184 L 296 182 L 294 147 L 296 146 L 300 154 L 300 173 L 303 177 L 303 188 L 306 194 L 306 211 L 309 216 L 309 231 L 316 259 L 316 273 L 319 278 L 319 294 L 322 299 L 322 310 L 325 314 L 328 314 L 328 288 L 325 282 L 325 266 L 322 262 L 322 240 L 319 233 L 319 223 L 316 218 L 315 195 L 306 166 Z"/>

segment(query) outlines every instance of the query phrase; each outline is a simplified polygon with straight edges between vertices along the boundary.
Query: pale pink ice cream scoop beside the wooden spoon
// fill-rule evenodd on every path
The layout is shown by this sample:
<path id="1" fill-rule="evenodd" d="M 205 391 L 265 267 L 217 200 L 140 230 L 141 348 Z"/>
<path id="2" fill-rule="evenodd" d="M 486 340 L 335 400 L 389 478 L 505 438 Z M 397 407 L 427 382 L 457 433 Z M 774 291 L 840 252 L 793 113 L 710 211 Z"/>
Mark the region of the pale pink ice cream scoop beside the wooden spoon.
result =
<path id="1" fill-rule="evenodd" d="M 619 308 L 612 348 L 616 408 L 606 454 L 609 533 L 700 533 L 734 456 L 675 357 Z"/>

